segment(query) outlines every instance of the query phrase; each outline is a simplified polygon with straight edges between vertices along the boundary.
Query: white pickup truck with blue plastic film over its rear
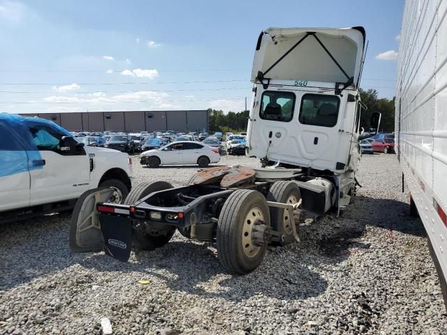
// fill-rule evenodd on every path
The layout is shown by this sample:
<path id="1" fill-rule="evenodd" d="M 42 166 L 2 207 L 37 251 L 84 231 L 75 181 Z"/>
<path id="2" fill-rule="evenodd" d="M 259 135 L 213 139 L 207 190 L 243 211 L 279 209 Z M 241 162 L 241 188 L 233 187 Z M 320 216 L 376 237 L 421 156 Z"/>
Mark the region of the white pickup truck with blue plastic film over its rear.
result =
<path id="1" fill-rule="evenodd" d="M 71 209 L 97 187 L 120 203 L 131 176 L 128 154 L 85 147 L 52 121 L 0 114 L 0 223 Z"/>

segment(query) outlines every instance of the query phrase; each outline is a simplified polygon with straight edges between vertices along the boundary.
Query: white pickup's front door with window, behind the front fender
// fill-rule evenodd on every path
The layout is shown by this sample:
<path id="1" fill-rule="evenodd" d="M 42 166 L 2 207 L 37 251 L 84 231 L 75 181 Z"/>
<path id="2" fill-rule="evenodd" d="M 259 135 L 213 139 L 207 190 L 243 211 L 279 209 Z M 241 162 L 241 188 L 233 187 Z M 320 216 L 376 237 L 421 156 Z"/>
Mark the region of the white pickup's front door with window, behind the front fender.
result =
<path id="1" fill-rule="evenodd" d="M 27 120 L 26 125 L 41 155 L 41 160 L 34 162 L 41 168 L 29 172 L 31 206 L 79 198 L 89 189 L 90 162 L 86 151 L 67 154 L 62 150 L 61 137 L 71 134 L 50 121 Z"/>

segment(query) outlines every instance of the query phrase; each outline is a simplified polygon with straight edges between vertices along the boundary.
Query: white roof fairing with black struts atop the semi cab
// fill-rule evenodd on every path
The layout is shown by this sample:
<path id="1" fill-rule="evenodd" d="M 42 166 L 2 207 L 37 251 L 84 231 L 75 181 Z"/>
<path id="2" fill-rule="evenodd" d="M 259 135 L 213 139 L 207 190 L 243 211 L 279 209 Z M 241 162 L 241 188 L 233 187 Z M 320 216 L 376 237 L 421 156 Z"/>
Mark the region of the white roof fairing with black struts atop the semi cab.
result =
<path id="1" fill-rule="evenodd" d="M 364 45 L 362 27 L 269 28 L 259 36 L 251 82 L 262 73 L 271 80 L 346 82 L 352 77 L 357 83 Z"/>

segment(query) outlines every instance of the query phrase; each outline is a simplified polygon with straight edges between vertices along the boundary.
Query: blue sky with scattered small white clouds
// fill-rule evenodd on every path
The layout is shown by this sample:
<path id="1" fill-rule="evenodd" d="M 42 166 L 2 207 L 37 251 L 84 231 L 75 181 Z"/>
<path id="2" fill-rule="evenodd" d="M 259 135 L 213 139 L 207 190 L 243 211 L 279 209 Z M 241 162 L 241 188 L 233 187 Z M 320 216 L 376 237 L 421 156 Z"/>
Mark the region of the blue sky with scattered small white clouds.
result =
<path id="1" fill-rule="evenodd" d="M 258 34 L 268 27 L 365 27 L 362 87 L 391 98 L 403 6 L 0 0 L 0 112 L 240 111 L 251 97 Z"/>

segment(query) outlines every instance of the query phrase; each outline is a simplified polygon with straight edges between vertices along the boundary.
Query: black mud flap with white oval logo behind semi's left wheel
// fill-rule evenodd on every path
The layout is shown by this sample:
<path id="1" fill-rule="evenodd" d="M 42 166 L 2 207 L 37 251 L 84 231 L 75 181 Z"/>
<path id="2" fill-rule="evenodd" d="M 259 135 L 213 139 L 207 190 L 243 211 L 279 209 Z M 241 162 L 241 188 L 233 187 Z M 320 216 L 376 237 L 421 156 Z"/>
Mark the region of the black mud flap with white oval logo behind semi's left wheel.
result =
<path id="1" fill-rule="evenodd" d="M 106 255 L 127 262 L 132 250 L 132 220 L 119 216 L 100 215 Z"/>

